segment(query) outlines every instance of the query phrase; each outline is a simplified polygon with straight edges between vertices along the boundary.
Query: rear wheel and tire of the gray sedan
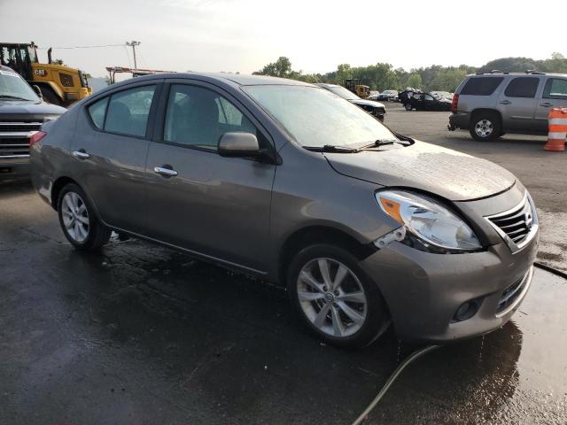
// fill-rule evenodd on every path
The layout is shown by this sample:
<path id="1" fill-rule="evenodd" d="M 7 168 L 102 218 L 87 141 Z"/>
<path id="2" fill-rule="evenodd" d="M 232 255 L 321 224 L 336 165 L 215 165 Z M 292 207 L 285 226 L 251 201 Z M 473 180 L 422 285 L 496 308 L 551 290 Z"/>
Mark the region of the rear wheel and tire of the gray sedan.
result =
<path id="1" fill-rule="evenodd" d="M 97 251 L 108 243 L 112 230 L 97 219 L 85 192 L 76 184 L 61 189 L 57 212 L 65 237 L 76 249 Z"/>

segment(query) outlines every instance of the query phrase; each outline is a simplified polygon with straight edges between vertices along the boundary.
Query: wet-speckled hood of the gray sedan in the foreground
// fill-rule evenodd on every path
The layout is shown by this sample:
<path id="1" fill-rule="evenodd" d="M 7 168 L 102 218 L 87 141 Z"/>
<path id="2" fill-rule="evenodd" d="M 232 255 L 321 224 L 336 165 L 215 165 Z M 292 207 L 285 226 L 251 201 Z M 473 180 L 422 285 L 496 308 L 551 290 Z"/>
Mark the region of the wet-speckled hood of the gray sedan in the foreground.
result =
<path id="1" fill-rule="evenodd" d="M 485 159 L 416 141 L 412 146 L 358 153 L 324 153 L 339 174 L 388 187 L 420 189 L 452 201 L 509 189 L 514 174 Z"/>

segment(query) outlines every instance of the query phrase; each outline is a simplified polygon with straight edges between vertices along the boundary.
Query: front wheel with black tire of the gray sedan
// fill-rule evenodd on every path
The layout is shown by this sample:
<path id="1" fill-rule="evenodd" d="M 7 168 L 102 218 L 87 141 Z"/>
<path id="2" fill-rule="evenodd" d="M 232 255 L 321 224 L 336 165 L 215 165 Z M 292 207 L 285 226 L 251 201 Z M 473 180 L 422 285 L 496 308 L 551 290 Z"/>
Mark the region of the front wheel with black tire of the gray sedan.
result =
<path id="1" fill-rule="evenodd" d="M 344 277 L 331 291 L 325 281 L 333 284 L 339 267 Z M 325 268 L 329 271 L 326 280 L 321 272 Z M 364 347 L 389 325 L 376 283 L 353 254 L 338 246 L 322 243 L 299 251 L 290 263 L 287 292 L 299 321 L 329 344 Z"/>

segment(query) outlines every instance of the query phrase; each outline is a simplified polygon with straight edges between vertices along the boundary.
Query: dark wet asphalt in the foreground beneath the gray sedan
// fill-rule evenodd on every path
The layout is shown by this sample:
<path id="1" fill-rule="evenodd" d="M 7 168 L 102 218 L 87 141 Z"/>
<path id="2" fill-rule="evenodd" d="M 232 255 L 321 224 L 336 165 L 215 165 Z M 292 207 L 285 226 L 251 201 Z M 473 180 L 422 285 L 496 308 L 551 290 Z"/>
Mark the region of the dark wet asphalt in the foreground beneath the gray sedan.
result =
<path id="1" fill-rule="evenodd" d="M 536 270 L 512 321 L 416 360 L 367 423 L 567 423 L 566 299 Z M 74 251 L 0 183 L 0 424 L 348 424 L 416 348 L 321 344 L 281 288 L 149 243 Z"/>

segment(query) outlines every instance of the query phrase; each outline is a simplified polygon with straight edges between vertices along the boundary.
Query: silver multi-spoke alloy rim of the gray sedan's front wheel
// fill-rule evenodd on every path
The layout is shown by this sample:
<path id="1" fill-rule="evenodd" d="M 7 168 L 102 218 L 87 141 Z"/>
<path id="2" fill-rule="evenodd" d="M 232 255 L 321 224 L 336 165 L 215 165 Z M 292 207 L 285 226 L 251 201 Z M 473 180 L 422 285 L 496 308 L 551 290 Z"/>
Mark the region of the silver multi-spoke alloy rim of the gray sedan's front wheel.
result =
<path id="1" fill-rule="evenodd" d="M 356 333 L 366 321 L 368 302 L 361 282 L 336 259 L 312 259 L 297 281 L 299 305 L 313 326 L 335 337 Z"/>

